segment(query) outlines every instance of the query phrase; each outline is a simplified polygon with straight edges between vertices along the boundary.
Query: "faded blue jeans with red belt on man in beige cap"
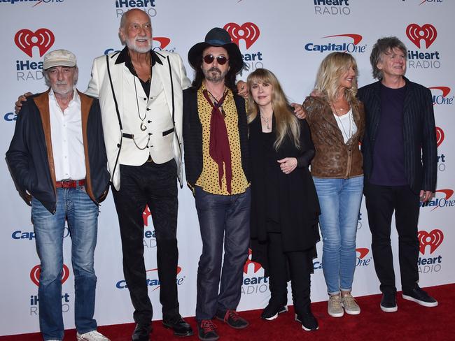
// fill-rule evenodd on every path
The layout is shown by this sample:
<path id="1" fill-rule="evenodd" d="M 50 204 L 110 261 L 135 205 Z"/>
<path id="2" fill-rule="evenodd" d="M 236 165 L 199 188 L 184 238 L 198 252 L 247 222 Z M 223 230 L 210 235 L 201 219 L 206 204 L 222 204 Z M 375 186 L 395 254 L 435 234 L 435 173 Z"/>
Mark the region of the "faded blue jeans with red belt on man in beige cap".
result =
<path id="1" fill-rule="evenodd" d="M 97 277 L 93 254 L 97 244 L 98 207 L 84 187 L 57 189 L 57 210 L 52 215 L 35 198 L 31 220 L 36 251 L 41 261 L 38 303 L 39 325 L 44 340 L 63 340 L 62 268 L 65 219 L 71 235 L 71 262 L 74 273 L 74 320 L 78 333 L 97 328 L 93 319 Z"/>

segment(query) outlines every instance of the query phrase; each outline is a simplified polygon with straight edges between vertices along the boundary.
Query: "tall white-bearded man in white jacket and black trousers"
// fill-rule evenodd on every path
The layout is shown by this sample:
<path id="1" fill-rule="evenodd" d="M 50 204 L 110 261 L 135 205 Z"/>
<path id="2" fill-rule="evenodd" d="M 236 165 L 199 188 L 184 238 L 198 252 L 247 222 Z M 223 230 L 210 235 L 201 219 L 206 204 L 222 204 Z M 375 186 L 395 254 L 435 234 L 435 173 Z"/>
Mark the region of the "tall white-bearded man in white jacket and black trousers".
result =
<path id="1" fill-rule="evenodd" d="M 132 340 L 150 340 L 152 305 L 144 266 L 143 212 L 157 240 L 163 324 L 175 335 L 193 331 L 177 299 L 177 183 L 182 175 L 182 89 L 190 85 L 181 57 L 154 52 L 151 20 L 127 11 L 120 21 L 126 47 L 98 57 L 87 94 L 99 98 L 109 172 L 123 248 L 123 272 L 137 326 Z"/>

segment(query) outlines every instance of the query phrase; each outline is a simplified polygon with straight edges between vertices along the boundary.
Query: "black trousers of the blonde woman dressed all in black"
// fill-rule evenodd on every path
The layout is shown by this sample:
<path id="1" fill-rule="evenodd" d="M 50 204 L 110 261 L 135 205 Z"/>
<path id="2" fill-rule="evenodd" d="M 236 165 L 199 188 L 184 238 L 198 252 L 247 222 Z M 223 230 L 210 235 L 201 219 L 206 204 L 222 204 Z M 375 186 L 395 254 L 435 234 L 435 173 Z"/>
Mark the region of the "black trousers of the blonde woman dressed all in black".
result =
<path id="1" fill-rule="evenodd" d="M 308 309 L 311 303 L 308 257 L 309 252 L 283 252 L 281 233 L 267 233 L 270 303 L 286 305 L 290 276 L 295 312 L 301 314 Z"/>

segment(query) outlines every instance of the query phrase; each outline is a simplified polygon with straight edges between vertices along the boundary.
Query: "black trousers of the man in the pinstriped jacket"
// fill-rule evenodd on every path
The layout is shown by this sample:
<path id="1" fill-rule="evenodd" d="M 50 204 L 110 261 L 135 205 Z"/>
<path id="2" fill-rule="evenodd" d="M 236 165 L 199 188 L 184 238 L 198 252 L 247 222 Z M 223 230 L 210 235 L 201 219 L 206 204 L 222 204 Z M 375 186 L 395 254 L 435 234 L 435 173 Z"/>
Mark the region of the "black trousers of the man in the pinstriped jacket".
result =
<path id="1" fill-rule="evenodd" d="M 363 188 L 368 212 L 368 224 L 372 234 L 372 254 L 380 289 L 395 293 L 395 273 L 391 248 L 391 222 L 395 211 L 398 232 L 398 259 L 400 262 L 401 287 L 414 289 L 419 281 L 419 195 L 409 186 L 379 186 L 365 184 Z"/>

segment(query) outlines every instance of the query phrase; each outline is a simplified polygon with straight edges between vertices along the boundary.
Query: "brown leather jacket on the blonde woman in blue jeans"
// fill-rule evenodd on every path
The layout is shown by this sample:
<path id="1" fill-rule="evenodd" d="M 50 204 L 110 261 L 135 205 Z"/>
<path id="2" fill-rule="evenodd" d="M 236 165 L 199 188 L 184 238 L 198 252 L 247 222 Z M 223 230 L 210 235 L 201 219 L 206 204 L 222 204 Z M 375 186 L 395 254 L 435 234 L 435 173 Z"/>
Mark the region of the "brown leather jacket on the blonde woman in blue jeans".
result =
<path id="1" fill-rule="evenodd" d="M 357 132 L 344 143 L 330 104 L 321 97 L 307 97 L 303 103 L 316 154 L 311 161 L 315 177 L 347 179 L 363 175 L 363 158 L 358 143 L 365 131 L 363 103 L 352 106 Z"/>

